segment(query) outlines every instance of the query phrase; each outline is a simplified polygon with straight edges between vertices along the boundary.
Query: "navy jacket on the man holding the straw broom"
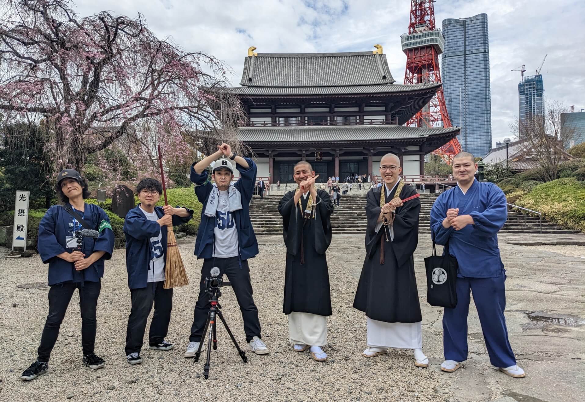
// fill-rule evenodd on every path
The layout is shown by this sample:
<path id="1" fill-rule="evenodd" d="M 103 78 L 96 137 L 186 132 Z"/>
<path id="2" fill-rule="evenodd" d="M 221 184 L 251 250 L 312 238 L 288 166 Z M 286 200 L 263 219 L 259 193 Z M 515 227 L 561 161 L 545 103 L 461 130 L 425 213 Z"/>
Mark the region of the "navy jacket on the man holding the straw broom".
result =
<path id="1" fill-rule="evenodd" d="M 176 207 L 178 208 L 178 206 Z M 186 218 L 173 215 L 173 226 L 186 224 L 193 216 L 192 209 L 187 209 L 189 216 Z M 163 217 L 161 207 L 154 207 L 156 216 Z M 146 218 L 140 204 L 130 209 L 124 221 L 124 234 L 126 236 L 126 271 L 128 271 L 128 287 L 139 289 L 148 284 L 148 271 L 150 260 L 153 258 L 153 250 L 150 247 L 150 238 L 161 233 L 161 245 L 163 245 L 164 263 L 167 263 L 167 226 L 159 225 L 157 221 Z"/>

